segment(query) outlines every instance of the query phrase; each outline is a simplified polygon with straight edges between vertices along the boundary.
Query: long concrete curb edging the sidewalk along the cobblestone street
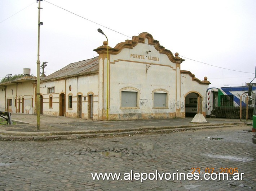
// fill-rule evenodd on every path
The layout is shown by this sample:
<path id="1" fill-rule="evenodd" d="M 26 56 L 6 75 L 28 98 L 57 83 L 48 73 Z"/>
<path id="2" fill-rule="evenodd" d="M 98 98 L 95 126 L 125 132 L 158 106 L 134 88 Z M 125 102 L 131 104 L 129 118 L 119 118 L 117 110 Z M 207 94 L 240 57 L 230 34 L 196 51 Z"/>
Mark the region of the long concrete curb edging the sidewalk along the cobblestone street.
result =
<path id="1" fill-rule="evenodd" d="M 6 131 L 0 130 L 0 141 L 47 141 L 59 139 L 79 139 L 79 138 L 95 138 L 107 136 L 121 136 L 133 134 L 147 133 L 163 133 L 177 132 L 186 130 L 210 129 L 227 126 L 237 126 L 239 122 L 223 123 L 223 124 L 197 124 L 197 125 L 182 125 L 182 126 L 160 126 L 160 127 L 140 127 L 129 129 L 115 130 L 85 130 L 85 131 L 43 131 L 43 132 L 23 132 L 23 131 Z"/>

